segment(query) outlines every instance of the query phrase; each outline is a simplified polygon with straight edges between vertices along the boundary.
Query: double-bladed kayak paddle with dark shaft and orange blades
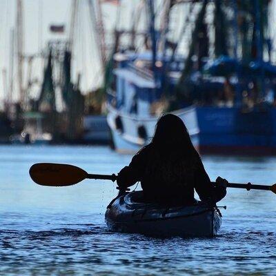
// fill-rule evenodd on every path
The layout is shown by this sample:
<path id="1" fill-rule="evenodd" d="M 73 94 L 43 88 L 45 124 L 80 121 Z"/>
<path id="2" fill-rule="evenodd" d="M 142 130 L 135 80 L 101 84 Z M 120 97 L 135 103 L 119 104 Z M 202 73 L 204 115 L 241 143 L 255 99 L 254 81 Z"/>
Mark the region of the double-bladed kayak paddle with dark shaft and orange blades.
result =
<path id="1" fill-rule="evenodd" d="M 52 163 L 38 163 L 30 167 L 30 177 L 32 180 L 42 186 L 70 186 L 79 183 L 83 179 L 106 179 L 113 182 L 117 179 L 113 175 L 94 175 L 89 174 L 85 170 L 67 164 L 52 164 Z M 216 184 L 216 182 L 212 182 Z M 268 185 L 254 185 L 254 184 L 239 184 L 228 183 L 229 188 L 242 188 L 246 190 L 271 190 L 276 194 L 276 184 Z"/>

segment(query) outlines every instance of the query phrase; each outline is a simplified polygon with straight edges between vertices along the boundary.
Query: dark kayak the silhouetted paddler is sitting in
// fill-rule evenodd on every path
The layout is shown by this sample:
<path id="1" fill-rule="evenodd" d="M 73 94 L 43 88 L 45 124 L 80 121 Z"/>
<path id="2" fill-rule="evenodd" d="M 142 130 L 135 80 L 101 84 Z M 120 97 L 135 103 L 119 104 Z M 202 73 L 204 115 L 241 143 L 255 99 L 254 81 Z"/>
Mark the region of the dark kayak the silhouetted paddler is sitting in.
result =
<path id="1" fill-rule="evenodd" d="M 150 236 L 214 237 L 221 226 L 221 213 L 201 201 L 190 206 L 144 203 L 143 192 L 113 199 L 106 210 L 106 225 L 112 232 Z"/>

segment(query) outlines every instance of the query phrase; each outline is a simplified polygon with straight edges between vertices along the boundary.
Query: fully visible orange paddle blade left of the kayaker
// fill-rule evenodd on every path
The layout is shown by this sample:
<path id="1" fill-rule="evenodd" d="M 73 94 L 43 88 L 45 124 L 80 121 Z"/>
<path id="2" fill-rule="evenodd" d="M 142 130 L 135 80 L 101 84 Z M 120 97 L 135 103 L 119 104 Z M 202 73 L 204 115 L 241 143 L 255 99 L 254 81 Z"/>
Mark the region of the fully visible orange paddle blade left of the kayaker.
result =
<path id="1" fill-rule="evenodd" d="M 70 186 L 86 179 L 87 172 L 67 164 L 38 163 L 30 167 L 32 180 L 43 186 Z"/>

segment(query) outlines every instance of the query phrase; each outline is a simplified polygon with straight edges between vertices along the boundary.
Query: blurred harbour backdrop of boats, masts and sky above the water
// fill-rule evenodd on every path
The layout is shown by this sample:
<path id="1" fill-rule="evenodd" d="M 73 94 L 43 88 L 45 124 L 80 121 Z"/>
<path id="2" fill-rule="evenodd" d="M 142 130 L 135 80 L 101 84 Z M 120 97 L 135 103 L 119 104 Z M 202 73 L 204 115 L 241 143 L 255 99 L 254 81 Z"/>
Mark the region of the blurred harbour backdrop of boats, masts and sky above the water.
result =
<path id="1" fill-rule="evenodd" d="M 202 154 L 275 154 L 274 1 L 0 5 L 1 143 L 135 152 L 174 112 Z"/>

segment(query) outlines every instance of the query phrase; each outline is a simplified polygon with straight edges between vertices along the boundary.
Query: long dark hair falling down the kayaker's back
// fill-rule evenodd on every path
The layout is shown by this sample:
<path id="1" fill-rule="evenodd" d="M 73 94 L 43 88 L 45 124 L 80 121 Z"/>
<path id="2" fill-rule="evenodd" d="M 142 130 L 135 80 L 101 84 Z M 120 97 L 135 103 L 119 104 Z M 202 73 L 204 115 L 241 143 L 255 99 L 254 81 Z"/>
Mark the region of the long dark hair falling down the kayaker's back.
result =
<path id="1" fill-rule="evenodd" d="M 155 135 L 146 147 L 150 150 L 146 175 L 163 183 L 185 179 L 199 164 L 199 155 L 184 122 L 172 114 L 159 118 Z"/>

